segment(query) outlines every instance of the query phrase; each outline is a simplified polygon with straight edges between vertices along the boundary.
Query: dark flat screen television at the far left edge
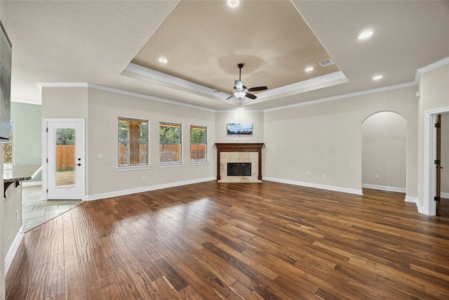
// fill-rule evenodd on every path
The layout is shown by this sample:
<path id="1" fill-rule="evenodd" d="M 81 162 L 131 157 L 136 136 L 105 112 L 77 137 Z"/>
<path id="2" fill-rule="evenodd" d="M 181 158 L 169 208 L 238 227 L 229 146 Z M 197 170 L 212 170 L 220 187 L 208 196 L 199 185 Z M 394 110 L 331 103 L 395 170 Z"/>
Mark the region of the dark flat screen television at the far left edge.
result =
<path id="1" fill-rule="evenodd" d="M 11 117 L 11 60 L 13 50 L 1 20 L 0 26 L 0 142 L 8 142 Z"/>

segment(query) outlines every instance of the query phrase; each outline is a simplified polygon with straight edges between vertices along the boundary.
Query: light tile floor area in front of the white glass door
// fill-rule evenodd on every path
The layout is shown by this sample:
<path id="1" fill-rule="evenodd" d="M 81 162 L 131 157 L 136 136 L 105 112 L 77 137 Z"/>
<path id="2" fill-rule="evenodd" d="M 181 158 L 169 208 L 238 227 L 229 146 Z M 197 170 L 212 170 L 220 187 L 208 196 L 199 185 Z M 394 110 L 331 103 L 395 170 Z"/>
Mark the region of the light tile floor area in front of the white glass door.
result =
<path id="1" fill-rule="evenodd" d="M 81 200 L 42 201 L 41 185 L 22 186 L 22 226 L 27 232 L 81 204 Z"/>

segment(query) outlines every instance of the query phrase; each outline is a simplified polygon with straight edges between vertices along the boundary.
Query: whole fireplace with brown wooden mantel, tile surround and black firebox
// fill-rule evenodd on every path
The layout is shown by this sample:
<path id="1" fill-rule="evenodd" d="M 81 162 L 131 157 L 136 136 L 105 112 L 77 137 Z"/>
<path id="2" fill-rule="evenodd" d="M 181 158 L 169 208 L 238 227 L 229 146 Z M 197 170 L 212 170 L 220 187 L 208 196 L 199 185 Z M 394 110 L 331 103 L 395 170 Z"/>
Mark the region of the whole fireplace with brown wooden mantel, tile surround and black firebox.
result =
<path id="1" fill-rule="evenodd" d="M 263 143 L 216 143 L 217 181 L 262 182 Z"/>

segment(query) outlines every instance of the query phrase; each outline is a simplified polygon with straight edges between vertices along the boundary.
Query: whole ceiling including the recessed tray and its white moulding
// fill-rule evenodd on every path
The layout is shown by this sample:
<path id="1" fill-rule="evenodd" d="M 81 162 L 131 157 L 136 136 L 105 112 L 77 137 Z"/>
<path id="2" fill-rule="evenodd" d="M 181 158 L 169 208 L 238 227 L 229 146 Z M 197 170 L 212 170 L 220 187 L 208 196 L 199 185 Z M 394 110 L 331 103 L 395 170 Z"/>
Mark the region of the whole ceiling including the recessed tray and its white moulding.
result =
<path id="1" fill-rule="evenodd" d="M 0 19 L 13 44 L 11 98 L 32 103 L 41 102 L 39 84 L 86 82 L 213 110 L 263 110 L 408 84 L 417 69 L 449 57 L 449 1 L 230 9 L 225 1 L 2 0 Z M 373 37 L 358 40 L 366 29 Z M 159 56 L 168 64 L 154 62 Z M 323 70 L 321 57 L 335 65 Z M 214 93 L 232 89 L 237 63 L 246 64 L 243 84 L 269 90 L 243 103 Z"/>

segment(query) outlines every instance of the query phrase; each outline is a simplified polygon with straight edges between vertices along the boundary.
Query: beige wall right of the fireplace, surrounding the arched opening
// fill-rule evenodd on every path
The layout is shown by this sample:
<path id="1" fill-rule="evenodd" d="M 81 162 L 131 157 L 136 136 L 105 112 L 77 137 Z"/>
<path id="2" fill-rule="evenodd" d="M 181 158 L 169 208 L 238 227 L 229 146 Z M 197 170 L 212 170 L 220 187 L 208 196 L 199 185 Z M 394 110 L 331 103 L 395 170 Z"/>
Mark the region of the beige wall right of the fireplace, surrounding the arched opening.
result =
<path id="1" fill-rule="evenodd" d="M 375 112 L 388 110 L 407 119 L 406 193 L 415 197 L 415 91 L 416 86 L 409 86 L 265 112 L 264 176 L 278 181 L 360 193 L 362 122 Z"/>

